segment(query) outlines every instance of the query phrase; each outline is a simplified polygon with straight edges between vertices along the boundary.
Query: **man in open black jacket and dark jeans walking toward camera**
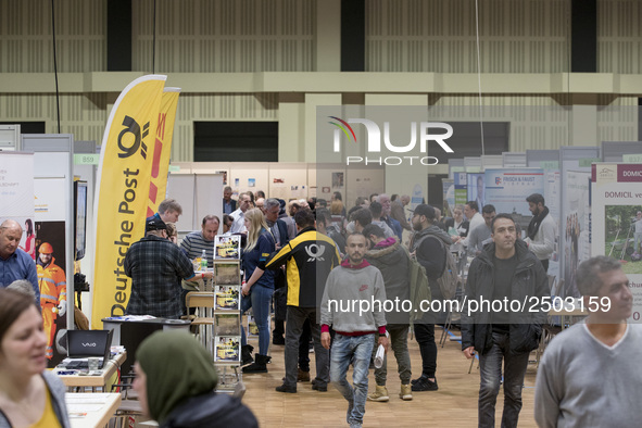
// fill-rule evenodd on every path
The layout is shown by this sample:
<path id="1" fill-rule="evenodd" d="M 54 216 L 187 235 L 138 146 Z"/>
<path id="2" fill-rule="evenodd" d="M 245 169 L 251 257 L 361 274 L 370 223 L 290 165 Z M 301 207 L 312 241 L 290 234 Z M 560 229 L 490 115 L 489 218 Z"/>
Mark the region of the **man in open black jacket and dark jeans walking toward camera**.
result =
<path id="1" fill-rule="evenodd" d="M 542 264 L 517 240 L 511 215 L 498 214 L 491 229 L 493 243 L 484 247 L 468 269 L 462 350 L 467 358 L 479 352 L 479 426 L 494 426 L 503 358 L 502 427 L 516 427 L 528 356 L 538 348 L 547 315 L 542 303 L 551 291 Z M 486 307 L 482 301 L 488 302 Z M 496 311 L 498 301 L 503 303 L 501 311 Z"/>

